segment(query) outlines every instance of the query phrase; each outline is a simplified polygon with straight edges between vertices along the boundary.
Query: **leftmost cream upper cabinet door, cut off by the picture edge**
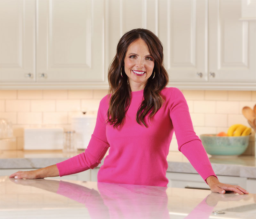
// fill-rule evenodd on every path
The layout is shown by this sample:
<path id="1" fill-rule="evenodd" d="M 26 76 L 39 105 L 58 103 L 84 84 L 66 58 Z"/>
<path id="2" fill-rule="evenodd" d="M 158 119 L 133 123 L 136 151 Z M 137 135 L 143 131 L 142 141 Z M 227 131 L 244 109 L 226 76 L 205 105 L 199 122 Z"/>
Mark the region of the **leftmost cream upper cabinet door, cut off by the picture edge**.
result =
<path id="1" fill-rule="evenodd" d="M 35 1 L 1 0 L 0 82 L 35 81 L 34 51 Z"/>

